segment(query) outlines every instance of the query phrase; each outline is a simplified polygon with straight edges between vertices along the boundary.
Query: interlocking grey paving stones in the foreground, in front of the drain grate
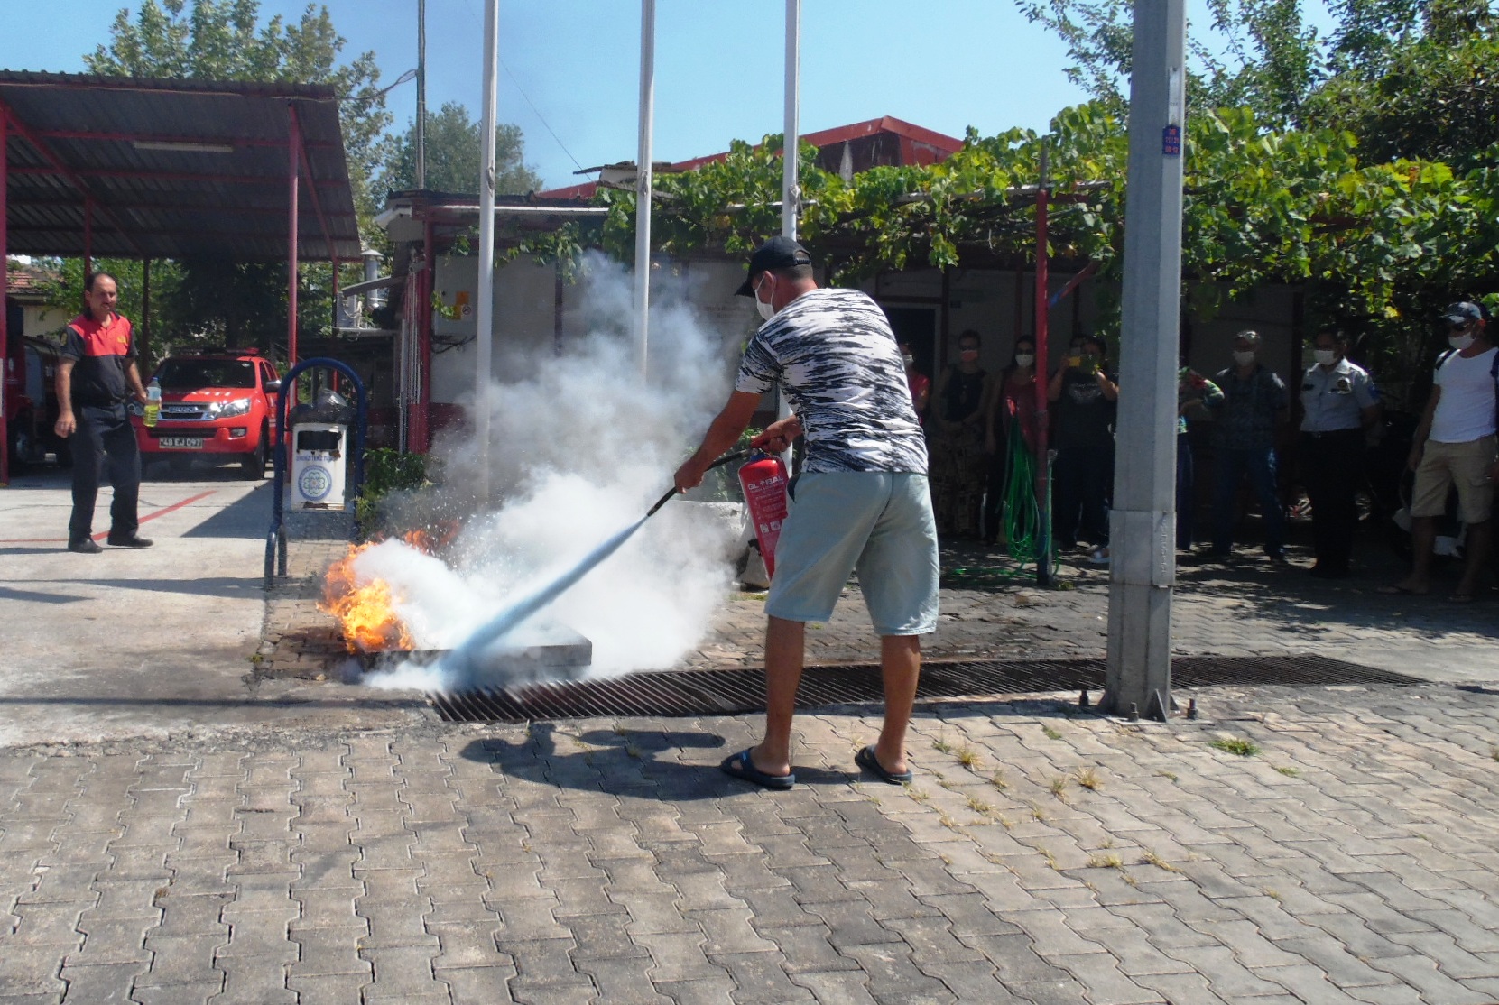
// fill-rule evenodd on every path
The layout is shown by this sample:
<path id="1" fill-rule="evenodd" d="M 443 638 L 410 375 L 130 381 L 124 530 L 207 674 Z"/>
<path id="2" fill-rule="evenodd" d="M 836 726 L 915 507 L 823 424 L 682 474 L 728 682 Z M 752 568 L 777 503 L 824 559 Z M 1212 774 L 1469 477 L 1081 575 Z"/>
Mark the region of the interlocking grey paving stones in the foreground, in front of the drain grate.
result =
<path id="1" fill-rule="evenodd" d="M 1499 689 L 1196 693 L 4 750 L 0 1005 L 1499 1001 Z"/>

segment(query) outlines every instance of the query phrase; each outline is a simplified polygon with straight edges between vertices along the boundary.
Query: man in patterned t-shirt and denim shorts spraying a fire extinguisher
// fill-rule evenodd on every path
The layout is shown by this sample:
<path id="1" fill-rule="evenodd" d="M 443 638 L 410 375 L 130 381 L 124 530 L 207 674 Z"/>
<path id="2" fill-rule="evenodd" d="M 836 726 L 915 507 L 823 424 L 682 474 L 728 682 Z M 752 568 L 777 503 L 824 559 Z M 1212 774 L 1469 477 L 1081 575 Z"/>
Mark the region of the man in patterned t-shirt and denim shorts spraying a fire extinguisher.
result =
<path id="1" fill-rule="evenodd" d="M 676 487 L 687 491 L 703 481 L 776 383 L 793 415 L 773 422 L 752 445 L 779 454 L 805 436 L 806 463 L 788 487 L 788 515 L 764 604 L 764 738 L 721 767 L 769 789 L 796 783 L 791 714 L 806 622 L 832 617 L 844 583 L 857 571 L 880 635 L 884 725 L 854 761 L 884 782 L 908 782 L 905 731 L 920 674 L 920 637 L 937 628 L 938 568 L 926 440 L 899 346 L 869 297 L 818 289 L 811 256 L 787 237 L 754 252 L 738 295 L 754 298 L 764 324 L 745 347 L 729 403 L 678 469 Z"/>

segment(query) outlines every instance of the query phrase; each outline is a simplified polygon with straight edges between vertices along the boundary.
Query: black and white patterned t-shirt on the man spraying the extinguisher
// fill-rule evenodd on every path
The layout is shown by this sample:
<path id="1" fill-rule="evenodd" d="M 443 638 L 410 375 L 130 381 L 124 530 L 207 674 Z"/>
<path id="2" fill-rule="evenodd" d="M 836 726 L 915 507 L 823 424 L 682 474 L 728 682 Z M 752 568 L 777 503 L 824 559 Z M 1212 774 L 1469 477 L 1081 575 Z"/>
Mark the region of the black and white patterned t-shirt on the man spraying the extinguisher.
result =
<path id="1" fill-rule="evenodd" d="M 760 325 L 735 389 L 776 382 L 806 433 L 808 472 L 926 473 L 901 349 L 880 306 L 856 289 L 812 289 Z"/>

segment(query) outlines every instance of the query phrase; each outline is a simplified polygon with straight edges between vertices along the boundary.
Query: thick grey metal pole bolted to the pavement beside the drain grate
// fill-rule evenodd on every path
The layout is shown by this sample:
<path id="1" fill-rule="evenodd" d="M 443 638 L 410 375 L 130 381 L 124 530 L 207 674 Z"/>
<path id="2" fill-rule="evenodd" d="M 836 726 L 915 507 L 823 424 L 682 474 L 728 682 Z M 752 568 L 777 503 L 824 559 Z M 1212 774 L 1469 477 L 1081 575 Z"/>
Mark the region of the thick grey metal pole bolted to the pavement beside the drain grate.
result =
<path id="1" fill-rule="evenodd" d="M 1184 0 L 1136 0 L 1103 708 L 1171 714 Z"/>

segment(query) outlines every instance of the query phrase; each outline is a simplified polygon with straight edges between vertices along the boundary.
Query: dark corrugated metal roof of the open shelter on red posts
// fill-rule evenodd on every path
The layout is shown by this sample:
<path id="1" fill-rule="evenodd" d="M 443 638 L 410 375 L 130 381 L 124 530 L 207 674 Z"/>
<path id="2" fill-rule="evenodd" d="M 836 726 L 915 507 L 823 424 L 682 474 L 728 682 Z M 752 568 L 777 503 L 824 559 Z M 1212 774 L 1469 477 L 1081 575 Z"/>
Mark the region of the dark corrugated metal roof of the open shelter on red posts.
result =
<path id="1" fill-rule="evenodd" d="M 0 106 L 13 255 L 82 255 L 91 202 L 96 258 L 285 261 L 292 111 L 298 258 L 360 255 L 331 87 L 0 70 Z"/>

